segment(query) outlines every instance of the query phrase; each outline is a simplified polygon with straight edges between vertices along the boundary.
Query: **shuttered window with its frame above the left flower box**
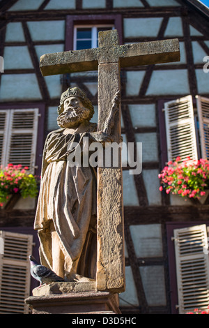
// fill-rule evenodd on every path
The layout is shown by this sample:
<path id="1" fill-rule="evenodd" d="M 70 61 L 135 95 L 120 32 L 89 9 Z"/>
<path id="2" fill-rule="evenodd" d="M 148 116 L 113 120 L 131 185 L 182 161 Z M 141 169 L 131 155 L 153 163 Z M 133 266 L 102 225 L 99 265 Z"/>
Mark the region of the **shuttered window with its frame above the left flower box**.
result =
<path id="1" fill-rule="evenodd" d="M 43 147 L 43 110 L 0 108 L 0 163 L 22 164 L 30 172 L 41 167 Z M 36 172 L 38 173 L 38 172 Z"/>

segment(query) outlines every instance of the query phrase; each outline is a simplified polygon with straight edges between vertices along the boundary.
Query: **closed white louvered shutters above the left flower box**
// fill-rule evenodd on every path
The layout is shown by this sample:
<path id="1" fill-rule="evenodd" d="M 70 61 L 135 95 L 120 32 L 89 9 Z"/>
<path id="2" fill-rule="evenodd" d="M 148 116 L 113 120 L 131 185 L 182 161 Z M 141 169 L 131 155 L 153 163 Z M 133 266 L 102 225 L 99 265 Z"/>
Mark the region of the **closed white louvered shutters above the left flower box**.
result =
<path id="1" fill-rule="evenodd" d="M 1 165 L 28 166 L 34 172 L 38 133 L 38 108 L 0 111 L 7 114 Z M 3 129 L 2 129 L 3 131 Z M 1 132 L 0 132 L 1 133 Z M 1 137 L 0 137 L 1 141 Z"/>

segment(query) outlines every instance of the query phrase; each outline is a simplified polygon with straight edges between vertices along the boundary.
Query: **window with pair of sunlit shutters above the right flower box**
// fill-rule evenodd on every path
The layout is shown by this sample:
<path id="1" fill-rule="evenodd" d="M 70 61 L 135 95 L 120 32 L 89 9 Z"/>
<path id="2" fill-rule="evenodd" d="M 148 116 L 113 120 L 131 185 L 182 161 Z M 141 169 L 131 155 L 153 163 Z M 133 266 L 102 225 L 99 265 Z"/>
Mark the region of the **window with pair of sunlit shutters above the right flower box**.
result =
<path id="1" fill-rule="evenodd" d="M 209 159 L 209 98 L 196 96 L 195 106 L 192 96 L 171 100 L 164 102 L 163 111 L 165 125 L 159 113 L 161 134 L 166 130 L 166 142 L 161 135 L 162 165 L 165 158 L 173 161 L 177 156 L 182 161 L 188 156 Z"/>

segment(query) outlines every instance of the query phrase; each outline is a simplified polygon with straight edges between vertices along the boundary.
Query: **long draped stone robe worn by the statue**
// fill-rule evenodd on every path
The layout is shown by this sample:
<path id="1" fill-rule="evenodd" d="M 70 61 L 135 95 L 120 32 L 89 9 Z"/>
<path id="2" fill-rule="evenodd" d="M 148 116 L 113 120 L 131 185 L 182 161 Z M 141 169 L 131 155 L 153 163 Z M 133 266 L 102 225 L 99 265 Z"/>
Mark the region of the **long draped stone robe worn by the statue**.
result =
<path id="1" fill-rule="evenodd" d="M 93 253 L 90 244 L 93 239 L 96 241 L 95 169 L 91 166 L 70 167 L 67 158 L 70 144 L 77 142 L 82 149 L 83 138 L 89 137 L 91 140 L 90 133 L 97 131 L 97 126 L 90 124 L 85 133 L 73 135 L 66 135 L 64 131 L 61 128 L 49 133 L 43 152 L 40 194 L 34 223 L 40 239 L 40 260 L 43 265 L 53 268 L 50 228 L 53 222 L 64 255 L 65 276 L 68 277 L 72 266 L 77 267 L 82 258 L 77 273 L 93 278 L 96 244 Z M 87 264 L 90 269 L 86 269 Z"/>

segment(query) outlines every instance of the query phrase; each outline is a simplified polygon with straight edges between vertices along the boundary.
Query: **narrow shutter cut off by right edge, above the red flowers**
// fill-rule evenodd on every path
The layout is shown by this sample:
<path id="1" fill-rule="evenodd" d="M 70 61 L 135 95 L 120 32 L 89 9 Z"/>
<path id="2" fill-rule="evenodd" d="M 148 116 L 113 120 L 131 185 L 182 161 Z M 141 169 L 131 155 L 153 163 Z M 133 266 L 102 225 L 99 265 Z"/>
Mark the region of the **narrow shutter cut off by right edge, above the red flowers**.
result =
<path id="1" fill-rule="evenodd" d="M 209 159 L 209 98 L 196 96 L 196 105 L 199 118 L 201 156 Z"/>

